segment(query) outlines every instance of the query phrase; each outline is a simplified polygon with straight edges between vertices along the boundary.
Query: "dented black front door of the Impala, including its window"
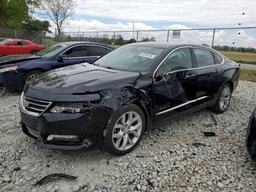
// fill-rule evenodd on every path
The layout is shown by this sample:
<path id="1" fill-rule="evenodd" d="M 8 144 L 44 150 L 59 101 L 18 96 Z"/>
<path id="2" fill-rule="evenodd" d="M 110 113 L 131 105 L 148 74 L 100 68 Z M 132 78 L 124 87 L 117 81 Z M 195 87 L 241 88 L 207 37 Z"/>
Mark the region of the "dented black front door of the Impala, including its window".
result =
<path id="1" fill-rule="evenodd" d="M 172 51 L 153 78 L 154 124 L 194 110 L 197 76 L 189 47 Z"/>

